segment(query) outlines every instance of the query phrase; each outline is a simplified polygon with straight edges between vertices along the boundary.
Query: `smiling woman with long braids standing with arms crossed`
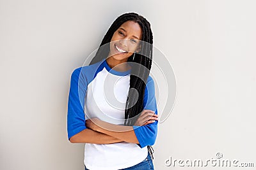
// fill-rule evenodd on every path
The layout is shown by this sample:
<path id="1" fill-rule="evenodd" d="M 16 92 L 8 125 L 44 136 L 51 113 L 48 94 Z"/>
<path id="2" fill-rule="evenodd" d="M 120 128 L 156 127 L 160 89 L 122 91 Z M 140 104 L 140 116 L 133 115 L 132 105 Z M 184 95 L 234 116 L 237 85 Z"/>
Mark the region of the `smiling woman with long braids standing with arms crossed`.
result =
<path id="1" fill-rule="evenodd" d="M 109 27 L 89 66 L 73 71 L 68 139 L 86 143 L 85 169 L 154 169 L 158 116 L 149 76 L 152 43 L 149 22 L 125 13 Z"/>

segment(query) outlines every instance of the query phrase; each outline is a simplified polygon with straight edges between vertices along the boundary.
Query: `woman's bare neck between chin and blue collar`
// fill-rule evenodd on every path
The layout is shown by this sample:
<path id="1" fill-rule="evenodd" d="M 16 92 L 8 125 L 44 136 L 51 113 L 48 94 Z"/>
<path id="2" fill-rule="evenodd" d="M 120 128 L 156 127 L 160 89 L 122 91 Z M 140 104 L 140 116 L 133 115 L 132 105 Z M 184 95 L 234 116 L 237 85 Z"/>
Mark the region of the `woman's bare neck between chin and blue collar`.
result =
<path id="1" fill-rule="evenodd" d="M 131 69 L 131 66 L 127 64 L 127 60 L 128 58 L 124 60 L 116 60 L 113 57 L 108 57 L 108 59 L 106 59 L 106 62 L 108 63 L 108 66 L 115 71 L 127 71 Z"/>

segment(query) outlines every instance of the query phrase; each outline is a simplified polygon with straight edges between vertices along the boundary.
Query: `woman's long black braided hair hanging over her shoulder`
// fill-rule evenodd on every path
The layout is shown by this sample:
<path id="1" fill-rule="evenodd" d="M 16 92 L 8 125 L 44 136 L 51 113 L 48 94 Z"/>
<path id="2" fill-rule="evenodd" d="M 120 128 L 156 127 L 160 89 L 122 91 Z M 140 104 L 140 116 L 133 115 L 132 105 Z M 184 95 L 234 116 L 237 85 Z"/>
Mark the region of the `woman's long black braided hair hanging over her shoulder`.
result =
<path id="1" fill-rule="evenodd" d="M 100 47 L 97 50 L 95 57 L 93 57 L 89 65 L 100 62 L 102 59 L 106 59 L 106 57 L 108 57 L 110 50 L 109 43 L 111 41 L 111 38 L 114 32 L 126 21 L 134 21 L 140 25 L 142 30 L 141 42 L 145 42 L 143 43 L 141 52 L 134 53 L 134 56 L 131 55 L 127 60 L 127 62 L 135 62 L 136 66 L 132 66 L 131 69 L 130 89 L 125 104 L 124 125 L 134 125 L 134 123 L 136 122 L 136 116 L 138 118 L 138 115 L 140 115 L 141 111 L 143 111 L 143 96 L 146 87 L 145 82 L 147 82 L 147 78 L 152 65 L 153 36 L 150 28 L 150 23 L 144 17 L 138 15 L 137 13 L 124 13 L 120 15 L 109 27 L 108 32 L 100 43 Z M 148 145 L 147 148 L 151 158 L 154 159 L 154 150 L 152 146 Z"/>

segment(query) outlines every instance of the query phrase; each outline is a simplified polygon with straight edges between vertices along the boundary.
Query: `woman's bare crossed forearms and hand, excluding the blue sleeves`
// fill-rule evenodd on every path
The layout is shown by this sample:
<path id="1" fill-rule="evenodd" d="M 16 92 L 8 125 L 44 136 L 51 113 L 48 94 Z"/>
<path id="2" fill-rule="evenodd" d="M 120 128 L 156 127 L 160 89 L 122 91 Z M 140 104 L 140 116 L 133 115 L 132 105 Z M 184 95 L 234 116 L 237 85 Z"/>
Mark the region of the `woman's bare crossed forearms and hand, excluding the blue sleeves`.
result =
<path id="1" fill-rule="evenodd" d="M 134 125 L 147 125 L 154 123 L 158 115 L 151 110 L 143 110 Z M 132 126 L 115 125 L 104 122 L 99 118 L 86 120 L 86 129 L 70 138 L 71 143 L 110 144 L 126 141 L 139 143 Z"/>

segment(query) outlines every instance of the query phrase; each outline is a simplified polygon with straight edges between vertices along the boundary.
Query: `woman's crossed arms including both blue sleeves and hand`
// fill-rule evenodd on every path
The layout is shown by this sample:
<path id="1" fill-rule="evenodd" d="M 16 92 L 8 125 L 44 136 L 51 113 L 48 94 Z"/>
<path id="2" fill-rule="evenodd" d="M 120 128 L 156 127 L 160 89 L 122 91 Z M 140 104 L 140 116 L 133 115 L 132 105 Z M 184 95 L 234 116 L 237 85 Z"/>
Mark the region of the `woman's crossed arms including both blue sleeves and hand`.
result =
<path id="1" fill-rule="evenodd" d="M 68 96 L 67 129 L 68 139 L 71 143 L 109 144 L 126 141 L 137 143 L 141 148 L 154 145 L 158 121 L 154 80 L 150 76 L 148 76 L 147 88 L 143 97 L 143 108 L 148 110 L 141 112 L 133 126 L 109 124 L 97 118 L 84 120 L 83 106 L 87 85 L 88 79 L 86 79 L 82 67 L 75 69 L 71 76 Z M 155 110 L 156 114 L 152 110 Z"/>

